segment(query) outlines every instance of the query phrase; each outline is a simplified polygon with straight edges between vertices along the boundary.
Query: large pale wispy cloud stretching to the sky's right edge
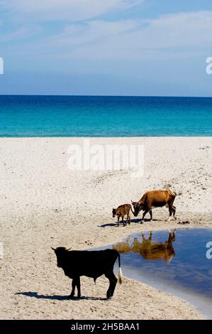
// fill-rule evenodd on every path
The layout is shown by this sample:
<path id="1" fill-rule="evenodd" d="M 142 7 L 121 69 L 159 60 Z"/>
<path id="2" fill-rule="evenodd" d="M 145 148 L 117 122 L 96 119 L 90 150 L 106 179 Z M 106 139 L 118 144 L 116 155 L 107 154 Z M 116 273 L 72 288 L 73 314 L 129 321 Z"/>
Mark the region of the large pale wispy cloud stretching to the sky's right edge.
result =
<path id="1" fill-rule="evenodd" d="M 211 47 L 211 30 L 212 11 L 198 11 L 152 20 L 76 23 L 44 44 L 63 58 L 140 59 L 154 55 L 156 50 L 157 54 L 179 57 Z"/>

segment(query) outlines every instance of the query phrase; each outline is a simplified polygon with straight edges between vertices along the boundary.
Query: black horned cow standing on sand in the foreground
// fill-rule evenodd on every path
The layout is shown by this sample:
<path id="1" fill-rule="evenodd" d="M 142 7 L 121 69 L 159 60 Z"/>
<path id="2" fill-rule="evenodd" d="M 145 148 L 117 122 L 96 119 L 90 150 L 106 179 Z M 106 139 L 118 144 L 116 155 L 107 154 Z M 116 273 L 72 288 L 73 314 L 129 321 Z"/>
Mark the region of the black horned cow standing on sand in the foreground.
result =
<path id="1" fill-rule="evenodd" d="M 105 275 L 110 281 L 107 298 L 113 296 L 117 279 L 113 273 L 113 266 L 118 257 L 118 281 L 121 284 L 122 273 L 120 264 L 120 254 L 114 249 L 101 251 L 69 251 L 65 247 L 52 248 L 57 256 L 57 266 L 64 270 L 66 276 L 72 279 L 72 292 L 69 298 L 74 297 L 75 286 L 77 286 L 77 298 L 80 298 L 80 276 L 92 277 L 94 281 Z"/>

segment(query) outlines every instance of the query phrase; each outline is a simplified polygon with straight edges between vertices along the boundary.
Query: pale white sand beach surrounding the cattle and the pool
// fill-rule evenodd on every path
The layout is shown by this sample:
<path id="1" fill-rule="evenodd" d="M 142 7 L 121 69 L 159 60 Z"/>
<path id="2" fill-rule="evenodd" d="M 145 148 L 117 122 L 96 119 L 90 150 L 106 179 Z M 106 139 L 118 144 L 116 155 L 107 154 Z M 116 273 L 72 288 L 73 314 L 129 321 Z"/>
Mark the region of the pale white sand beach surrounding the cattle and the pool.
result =
<path id="1" fill-rule="evenodd" d="M 68 301 L 71 281 L 50 247 L 87 249 L 133 232 L 212 226 L 211 137 L 92 139 L 93 144 L 141 144 L 145 173 L 71 171 L 71 144 L 79 138 L 0 139 L 1 319 L 199 319 L 186 301 L 124 277 L 111 300 L 108 280 L 82 277 L 82 298 Z M 171 185 L 177 220 L 153 210 L 153 222 L 113 225 L 112 208 L 139 200 L 146 190 Z M 141 215 L 140 215 L 141 217 Z M 133 218 L 133 217 L 132 217 Z M 149 215 L 146 216 L 147 220 Z M 105 227 L 102 227 L 105 226 Z M 182 227 L 180 225 L 180 227 Z M 123 272 L 124 275 L 124 272 Z"/>

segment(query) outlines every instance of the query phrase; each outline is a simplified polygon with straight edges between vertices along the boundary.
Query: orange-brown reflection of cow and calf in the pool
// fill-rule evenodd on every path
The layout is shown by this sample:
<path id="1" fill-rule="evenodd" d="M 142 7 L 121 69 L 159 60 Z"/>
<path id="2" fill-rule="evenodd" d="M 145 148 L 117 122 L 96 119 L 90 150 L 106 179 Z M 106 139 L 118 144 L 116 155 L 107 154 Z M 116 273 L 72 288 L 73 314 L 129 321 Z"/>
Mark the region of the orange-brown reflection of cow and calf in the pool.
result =
<path id="1" fill-rule="evenodd" d="M 168 239 L 165 242 L 152 242 L 152 232 L 146 239 L 142 234 L 142 242 L 138 238 L 134 238 L 133 244 L 130 245 L 130 238 L 125 242 L 118 242 L 113 245 L 113 249 L 116 249 L 119 253 L 138 253 L 144 259 L 147 260 L 165 260 L 167 264 L 172 261 L 175 256 L 174 247 L 172 242 L 175 241 L 175 232 L 169 231 Z"/>

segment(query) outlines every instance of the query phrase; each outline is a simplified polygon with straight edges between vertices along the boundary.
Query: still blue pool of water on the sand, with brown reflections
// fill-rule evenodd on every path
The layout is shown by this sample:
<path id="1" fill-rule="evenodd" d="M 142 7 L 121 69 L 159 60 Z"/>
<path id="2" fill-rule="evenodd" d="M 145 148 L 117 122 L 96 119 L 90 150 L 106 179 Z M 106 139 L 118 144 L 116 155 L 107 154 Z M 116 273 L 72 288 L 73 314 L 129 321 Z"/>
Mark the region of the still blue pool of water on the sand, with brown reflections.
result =
<path id="1" fill-rule="evenodd" d="M 212 318 L 210 247 L 212 229 L 179 229 L 136 233 L 99 249 L 120 252 L 123 276 L 184 298 Z"/>

